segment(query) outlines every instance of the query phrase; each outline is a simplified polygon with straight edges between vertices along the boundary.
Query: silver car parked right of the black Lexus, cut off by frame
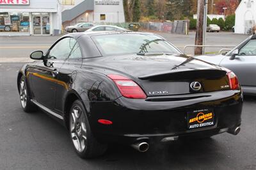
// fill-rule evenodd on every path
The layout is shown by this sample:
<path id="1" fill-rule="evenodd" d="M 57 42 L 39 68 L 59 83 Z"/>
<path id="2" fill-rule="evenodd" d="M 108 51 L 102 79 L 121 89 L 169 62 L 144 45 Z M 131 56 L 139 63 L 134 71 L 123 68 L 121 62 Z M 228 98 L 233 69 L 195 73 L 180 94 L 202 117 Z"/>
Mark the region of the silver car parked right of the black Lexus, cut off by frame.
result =
<path id="1" fill-rule="evenodd" d="M 256 96 L 256 35 L 245 39 L 226 54 L 198 56 L 196 59 L 230 69 L 237 75 L 244 94 Z"/>

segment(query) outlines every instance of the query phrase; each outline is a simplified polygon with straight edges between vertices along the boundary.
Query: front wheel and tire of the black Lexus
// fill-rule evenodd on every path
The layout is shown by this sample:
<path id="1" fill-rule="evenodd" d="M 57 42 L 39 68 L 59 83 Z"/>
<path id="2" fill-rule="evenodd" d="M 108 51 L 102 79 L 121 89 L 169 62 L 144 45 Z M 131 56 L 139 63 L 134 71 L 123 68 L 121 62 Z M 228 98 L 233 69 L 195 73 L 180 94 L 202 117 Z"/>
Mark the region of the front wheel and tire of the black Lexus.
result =
<path id="1" fill-rule="evenodd" d="M 37 110 L 37 107 L 31 102 L 31 98 L 29 97 L 26 78 L 24 76 L 20 78 L 19 94 L 21 107 L 26 113 L 31 113 Z"/>

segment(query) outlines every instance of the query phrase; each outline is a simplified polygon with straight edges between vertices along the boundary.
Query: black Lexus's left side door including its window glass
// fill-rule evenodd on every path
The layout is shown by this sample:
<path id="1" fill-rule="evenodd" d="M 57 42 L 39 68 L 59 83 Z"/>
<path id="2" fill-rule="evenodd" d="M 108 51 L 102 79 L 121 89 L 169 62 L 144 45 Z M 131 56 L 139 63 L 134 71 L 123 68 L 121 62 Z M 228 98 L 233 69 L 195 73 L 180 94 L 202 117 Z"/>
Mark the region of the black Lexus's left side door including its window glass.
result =
<path id="1" fill-rule="evenodd" d="M 60 68 L 68 58 L 74 44 L 70 43 L 71 38 L 60 39 L 47 52 L 45 60 L 38 62 L 31 70 L 31 84 L 33 95 L 37 103 L 46 108 L 54 110 L 56 98 L 56 85 Z"/>

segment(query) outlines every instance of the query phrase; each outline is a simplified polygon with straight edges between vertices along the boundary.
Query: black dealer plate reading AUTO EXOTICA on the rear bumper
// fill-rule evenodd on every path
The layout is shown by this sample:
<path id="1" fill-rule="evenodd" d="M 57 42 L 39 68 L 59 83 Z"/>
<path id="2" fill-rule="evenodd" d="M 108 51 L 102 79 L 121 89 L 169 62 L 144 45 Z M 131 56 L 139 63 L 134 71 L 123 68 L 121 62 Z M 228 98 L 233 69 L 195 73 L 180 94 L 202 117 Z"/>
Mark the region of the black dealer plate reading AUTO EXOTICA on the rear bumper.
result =
<path id="1" fill-rule="evenodd" d="M 188 129 L 211 127 L 214 125 L 213 110 L 195 110 L 188 112 Z"/>

